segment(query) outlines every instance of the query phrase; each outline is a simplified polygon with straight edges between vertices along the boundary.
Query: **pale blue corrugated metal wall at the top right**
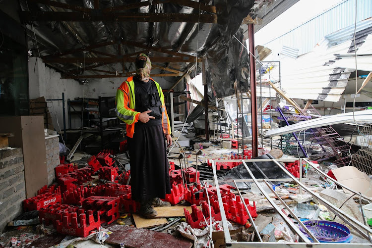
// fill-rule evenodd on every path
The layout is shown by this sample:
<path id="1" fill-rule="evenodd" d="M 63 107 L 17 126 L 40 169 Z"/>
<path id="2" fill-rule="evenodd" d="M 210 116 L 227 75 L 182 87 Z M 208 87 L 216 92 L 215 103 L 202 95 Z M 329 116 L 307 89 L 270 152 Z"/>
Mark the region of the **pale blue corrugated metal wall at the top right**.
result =
<path id="1" fill-rule="evenodd" d="M 357 21 L 365 20 L 371 16 L 372 1 L 358 0 Z M 324 36 L 350 27 L 354 23 L 355 0 L 344 0 L 263 46 L 273 50 L 273 53 L 279 53 L 283 46 L 288 46 L 298 48 L 299 55 L 305 54 L 310 52 Z"/>

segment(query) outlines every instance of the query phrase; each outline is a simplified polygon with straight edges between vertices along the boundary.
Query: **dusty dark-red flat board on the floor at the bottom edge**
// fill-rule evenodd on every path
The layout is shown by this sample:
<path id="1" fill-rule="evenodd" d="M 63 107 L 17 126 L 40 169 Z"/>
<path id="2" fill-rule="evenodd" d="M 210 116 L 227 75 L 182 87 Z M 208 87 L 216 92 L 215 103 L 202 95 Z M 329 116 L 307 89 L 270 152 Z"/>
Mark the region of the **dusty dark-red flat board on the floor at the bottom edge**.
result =
<path id="1" fill-rule="evenodd" d="M 173 235 L 147 229 L 134 228 L 122 225 L 109 226 L 113 233 L 105 241 L 108 244 L 123 244 L 127 248 L 191 248 L 192 242 L 185 238 L 176 238 Z"/>

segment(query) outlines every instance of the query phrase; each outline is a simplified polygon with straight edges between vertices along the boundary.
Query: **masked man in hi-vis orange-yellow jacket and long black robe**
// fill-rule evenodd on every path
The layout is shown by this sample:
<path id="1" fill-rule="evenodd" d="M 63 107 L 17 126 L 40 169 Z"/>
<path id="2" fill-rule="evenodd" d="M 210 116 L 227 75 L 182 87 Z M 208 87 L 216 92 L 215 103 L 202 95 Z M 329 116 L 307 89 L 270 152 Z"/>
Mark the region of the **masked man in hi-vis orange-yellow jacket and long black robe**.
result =
<path id="1" fill-rule="evenodd" d="M 130 157 L 132 198 L 139 201 L 140 214 L 157 215 L 151 205 L 170 206 L 160 198 L 171 193 L 166 143 L 172 145 L 171 127 L 159 84 L 150 78 L 150 58 L 135 59 L 136 75 L 116 93 L 116 114 L 126 123 Z"/>

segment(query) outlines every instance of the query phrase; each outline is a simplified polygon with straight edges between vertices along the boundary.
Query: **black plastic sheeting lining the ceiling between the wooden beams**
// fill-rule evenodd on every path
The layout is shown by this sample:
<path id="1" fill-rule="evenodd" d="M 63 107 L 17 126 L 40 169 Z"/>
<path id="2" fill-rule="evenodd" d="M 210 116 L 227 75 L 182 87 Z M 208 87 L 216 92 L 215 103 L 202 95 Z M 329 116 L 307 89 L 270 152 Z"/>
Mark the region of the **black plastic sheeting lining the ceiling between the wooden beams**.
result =
<path id="1" fill-rule="evenodd" d="M 56 0 L 68 4 L 93 8 L 94 0 Z M 138 2 L 136 0 L 100 0 L 100 7 L 115 7 Z M 208 2 L 208 1 L 203 1 Z M 239 29 L 242 20 L 252 12 L 254 0 L 210 0 L 216 6 L 218 23 L 174 23 L 174 22 L 32 22 L 27 23 L 28 47 L 34 54 L 40 51 L 41 56 L 59 54 L 68 50 L 81 49 L 89 45 L 123 40 L 137 42 L 167 50 L 180 51 L 190 55 L 206 56 L 208 65 L 207 82 L 210 99 L 234 94 L 234 83 L 244 91 L 248 87 L 248 53 L 234 38 L 234 35 L 245 44 L 243 31 Z M 202 3 L 204 4 L 204 3 Z M 22 10 L 54 11 L 51 6 L 20 0 Z M 70 11 L 56 8 L 58 11 Z M 123 12 L 141 13 L 198 13 L 198 9 L 171 2 L 144 6 Z M 207 13 L 202 11 L 202 13 Z M 71 32 L 71 29 L 73 32 Z M 35 32 L 35 34 L 34 34 Z M 36 35 L 36 39 L 35 39 Z M 119 54 L 118 46 L 106 46 L 96 50 Z M 143 49 L 122 46 L 121 54 L 138 52 Z M 169 56 L 153 52 L 152 56 Z M 76 52 L 65 57 L 100 56 L 90 52 Z M 49 64 L 62 72 L 82 74 L 78 64 Z M 201 64 L 200 64 L 201 65 Z M 85 66 L 89 66 L 86 64 Z M 187 63 L 165 63 L 163 66 L 185 71 Z M 96 69 L 133 71 L 134 65 L 122 63 L 104 65 Z M 198 66 L 199 67 L 199 66 Z M 120 69 L 119 69 L 120 68 Z M 200 68 L 197 68 L 200 71 Z M 153 70 L 154 73 L 160 73 Z M 96 75 L 97 72 L 86 71 L 85 75 Z M 243 74 L 243 75 L 242 75 Z M 165 78 L 177 82 L 178 77 Z"/>

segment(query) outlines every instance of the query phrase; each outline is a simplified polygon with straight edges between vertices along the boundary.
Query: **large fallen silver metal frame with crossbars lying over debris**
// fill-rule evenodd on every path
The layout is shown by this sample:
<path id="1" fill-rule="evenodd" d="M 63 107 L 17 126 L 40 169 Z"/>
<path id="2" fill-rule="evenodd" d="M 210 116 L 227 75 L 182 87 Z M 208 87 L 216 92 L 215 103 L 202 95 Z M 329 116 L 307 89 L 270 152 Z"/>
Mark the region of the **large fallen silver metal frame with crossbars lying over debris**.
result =
<path id="1" fill-rule="evenodd" d="M 333 181 L 335 184 L 337 184 L 338 186 L 342 187 L 342 188 L 345 188 L 359 196 L 361 196 L 361 198 L 364 198 L 370 202 L 372 202 L 372 198 L 369 198 L 365 195 L 362 195 L 361 193 L 357 193 L 353 190 L 351 190 L 350 188 L 342 185 L 341 183 L 333 180 L 332 178 L 330 178 L 329 176 L 327 176 L 324 172 L 322 172 L 321 170 L 319 170 L 318 168 L 316 168 L 309 160 L 305 159 L 305 158 L 290 158 L 290 159 L 242 159 L 242 163 L 244 164 L 244 166 L 246 167 L 248 173 L 250 174 L 251 178 L 252 179 L 238 179 L 238 180 L 220 180 L 220 179 L 217 179 L 217 173 L 216 173 L 216 160 L 212 160 L 212 169 L 213 169 L 213 180 L 204 180 L 204 183 L 213 183 L 214 186 L 216 187 L 216 191 L 217 191 L 217 198 L 218 198 L 218 204 L 219 204 L 219 208 L 220 208 L 220 212 L 221 212 L 221 218 L 222 218 L 222 226 L 223 226 L 223 229 L 224 229 L 224 236 L 225 236 L 225 243 L 226 243 L 226 247 L 234 247 L 234 248 L 270 248 L 270 247 L 275 247 L 275 248 L 288 248 L 288 247 L 291 247 L 291 248 L 304 248 L 305 246 L 306 247 L 312 247 L 312 246 L 316 246 L 316 247 L 319 247 L 319 248 L 325 248 L 325 246 L 337 246 L 337 247 L 343 247 L 343 246 L 347 246 L 348 248 L 360 248 L 361 246 L 363 247 L 372 247 L 372 243 L 366 243 L 366 244 L 345 244 L 345 243 L 319 243 L 316 239 L 313 239 L 314 240 L 314 243 L 311 243 L 310 240 L 299 230 L 299 228 L 297 227 L 297 225 L 295 225 L 289 218 L 288 216 L 286 216 L 281 210 L 280 208 L 278 207 L 278 205 L 268 196 L 268 194 L 262 189 L 262 187 L 257 184 L 258 182 L 264 182 L 267 187 L 274 193 L 275 191 L 272 190 L 272 187 L 270 187 L 269 185 L 269 181 L 272 181 L 272 182 L 285 182 L 285 181 L 295 181 L 297 184 L 299 184 L 299 187 L 300 187 L 300 190 L 305 190 L 308 194 L 310 194 L 313 198 L 316 198 L 319 202 L 321 202 L 322 204 L 324 204 L 329 211 L 332 211 L 333 213 L 335 213 L 339 218 L 341 218 L 343 221 L 345 221 L 349 226 L 351 226 L 354 231 L 358 232 L 362 237 L 364 237 L 366 240 L 369 240 L 370 239 L 370 236 L 372 235 L 372 229 L 370 229 L 369 226 L 366 226 L 365 224 L 359 222 L 358 220 L 355 220 L 353 219 L 352 216 L 348 215 L 347 213 L 345 213 L 343 210 L 335 207 L 334 205 L 332 205 L 330 202 L 328 202 L 326 199 L 320 197 L 320 196 L 317 196 L 314 194 L 314 192 L 312 192 L 307 186 L 305 186 L 301 181 L 301 178 L 302 178 L 302 175 L 300 175 L 300 179 L 297 179 L 296 177 L 294 177 L 280 162 L 292 162 L 294 160 L 300 160 L 300 164 L 302 164 L 302 160 L 305 160 L 312 168 L 315 169 L 315 171 L 317 171 L 318 173 L 320 173 L 322 176 L 325 176 L 327 177 L 328 179 L 330 179 L 331 181 Z M 227 160 L 218 160 L 218 162 L 227 162 L 227 161 L 236 161 L 236 160 L 231 160 L 231 159 L 227 159 Z M 282 169 L 290 178 L 286 178 L 286 179 L 269 179 L 269 178 L 265 178 L 265 179 L 256 179 L 254 177 L 254 175 L 252 174 L 252 172 L 250 171 L 250 169 L 248 168 L 246 162 L 263 162 L 263 161 L 272 161 L 274 162 L 280 169 Z M 300 170 L 300 172 L 302 172 L 302 170 Z M 301 173 L 302 174 L 302 173 Z M 260 239 L 260 235 L 258 235 L 259 237 L 259 240 L 260 242 L 237 242 L 235 240 L 232 240 L 231 237 L 230 237 L 230 232 L 229 232 L 229 229 L 228 229 L 228 224 L 227 224 L 227 218 L 226 218 L 226 214 L 225 214 L 225 210 L 224 210 L 224 207 L 223 207 L 223 202 L 222 202 L 222 196 L 221 196 L 221 192 L 220 192 L 220 188 L 219 188 L 219 183 L 223 183 L 223 182 L 233 182 L 236 186 L 236 189 L 238 191 L 238 194 L 239 196 L 242 198 L 242 195 L 241 195 L 241 192 L 239 190 L 239 188 L 237 187 L 236 185 L 236 182 L 255 182 L 256 185 L 257 185 L 257 188 L 261 191 L 261 193 L 268 199 L 269 203 L 274 207 L 274 209 L 282 216 L 282 218 L 287 222 L 287 224 L 289 225 L 289 227 L 292 229 L 292 231 L 294 231 L 294 233 L 296 233 L 297 235 L 299 235 L 299 237 L 304 241 L 304 242 L 299 242 L 299 243 L 264 243 L 262 242 L 262 240 Z M 243 198 L 242 198 L 243 199 Z M 284 205 L 285 208 L 287 208 L 287 210 L 289 209 L 288 205 L 284 203 L 283 200 L 281 200 L 281 198 L 278 197 L 278 199 L 281 201 L 281 203 Z M 245 201 L 243 200 L 243 203 L 244 203 L 244 207 L 247 211 L 248 207 L 245 203 Z M 210 208 L 210 206 L 209 206 Z M 290 212 L 292 212 L 292 210 L 289 209 Z M 249 211 L 247 211 L 249 213 Z M 293 215 L 295 216 L 295 215 Z M 249 219 L 251 221 L 251 223 L 253 224 L 253 229 L 254 229 L 254 232 L 257 234 L 257 228 L 256 226 L 254 225 L 254 222 L 252 221 L 252 218 L 249 214 Z M 297 217 L 295 217 L 295 219 L 297 219 Z M 301 223 L 301 222 L 299 222 Z M 303 226 L 303 225 L 302 225 Z M 304 227 L 304 226 L 303 226 Z M 310 231 L 305 228 L 305 230 L 310 233 Z M 311 237 L 311 235 L 310 235 Z M 370 239 L 371 240 L 371 239 Z"/>

